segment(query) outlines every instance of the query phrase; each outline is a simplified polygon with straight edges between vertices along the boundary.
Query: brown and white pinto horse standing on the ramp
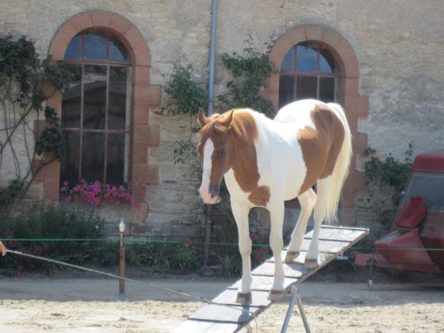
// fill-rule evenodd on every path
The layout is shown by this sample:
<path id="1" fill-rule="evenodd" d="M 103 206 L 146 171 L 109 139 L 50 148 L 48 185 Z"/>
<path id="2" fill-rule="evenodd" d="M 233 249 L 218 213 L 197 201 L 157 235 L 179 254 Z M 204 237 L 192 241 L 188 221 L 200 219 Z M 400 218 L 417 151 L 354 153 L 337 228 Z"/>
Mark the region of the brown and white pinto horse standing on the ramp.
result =
<path id="1" fill-rule="evenodd" d="M 321 223 L 324 219 L 327 223 L 337 219 L 341 189 L 352 157 L 352 137 L 343 108 L 336 103 L 307 99 L 285 105 L 274 119 L 248 108 L 206 117 L 200 108 L 198 123 L 200 196 L 204 203 L 216 203 L 224 178 L 239 233 L 242 278 L 237 302 L 251 299 L 248 212 L 252 207 L 265 207 L 270 212 L 275 271 L 268 299 L 279 300 L 284 295 L 284 201 L 298 198 L 301 207 L 284 262 L 292 262 L 300 254 L 314 210 L 314 232 L 304 264 L 316 268 Z"/>

